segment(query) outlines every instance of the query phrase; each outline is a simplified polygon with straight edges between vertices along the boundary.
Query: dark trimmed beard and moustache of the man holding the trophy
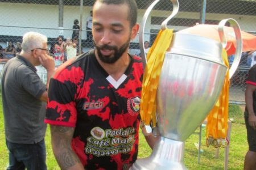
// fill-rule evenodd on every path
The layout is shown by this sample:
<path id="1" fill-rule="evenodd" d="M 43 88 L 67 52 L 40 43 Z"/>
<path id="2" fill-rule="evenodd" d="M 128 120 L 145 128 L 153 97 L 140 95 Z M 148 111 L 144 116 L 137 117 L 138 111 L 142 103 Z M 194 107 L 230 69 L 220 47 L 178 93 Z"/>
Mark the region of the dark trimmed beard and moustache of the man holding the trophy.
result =
<path id="1" fill-rule="evenodd" d="M 95 41 L 93 40 L 93 44 L 96 47 L 98 58 L 104 63 L 115 63 L 121 56 L 122 54 L 126 51 L 126 49 L 129 47 L 130 44 L 130 37 L 129 39 L 123 44 L 119 49 L 116 45 L 100 45 L 97 46 Z M 113 56 L 104 56 L 101 53 L 101 49 L 108 49 L 108 50 L 114 50 Z"/>

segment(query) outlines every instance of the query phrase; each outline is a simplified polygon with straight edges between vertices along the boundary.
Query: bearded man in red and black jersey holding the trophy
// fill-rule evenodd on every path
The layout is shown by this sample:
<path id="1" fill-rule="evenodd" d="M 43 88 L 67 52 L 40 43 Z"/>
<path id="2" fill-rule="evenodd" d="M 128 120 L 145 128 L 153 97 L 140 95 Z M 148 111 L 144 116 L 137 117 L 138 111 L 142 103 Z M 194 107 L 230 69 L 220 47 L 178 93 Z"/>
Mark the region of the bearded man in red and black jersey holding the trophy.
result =
<path id="1" fill-rule="evenodd" d="M 45 122 L 61 169 L 129 169 L 138 155 L 141 58 L 134 0 L 97 0 L 96 49 L 64 63 L 51 79 Z M 156 138 L 145 136 L 152 148 Z"/>

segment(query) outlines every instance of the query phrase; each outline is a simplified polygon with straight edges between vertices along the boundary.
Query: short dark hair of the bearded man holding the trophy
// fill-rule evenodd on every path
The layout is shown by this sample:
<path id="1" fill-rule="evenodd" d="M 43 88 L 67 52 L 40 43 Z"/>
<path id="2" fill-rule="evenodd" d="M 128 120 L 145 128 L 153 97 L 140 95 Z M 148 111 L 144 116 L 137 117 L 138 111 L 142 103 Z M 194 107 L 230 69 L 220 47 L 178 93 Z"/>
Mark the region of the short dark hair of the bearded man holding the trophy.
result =
<path id="1" fill-rule="evenodd" d="M 126 3 L 128 5 L 128 18 L 127 20 L 130 21 L 130 27 L 132 28 L 137 23 L 137 15 L 138 15 L 138 7 L 135 0 L 97 0 L 101 3 L 106 3 L 108 5 L 122 5 Z"/>

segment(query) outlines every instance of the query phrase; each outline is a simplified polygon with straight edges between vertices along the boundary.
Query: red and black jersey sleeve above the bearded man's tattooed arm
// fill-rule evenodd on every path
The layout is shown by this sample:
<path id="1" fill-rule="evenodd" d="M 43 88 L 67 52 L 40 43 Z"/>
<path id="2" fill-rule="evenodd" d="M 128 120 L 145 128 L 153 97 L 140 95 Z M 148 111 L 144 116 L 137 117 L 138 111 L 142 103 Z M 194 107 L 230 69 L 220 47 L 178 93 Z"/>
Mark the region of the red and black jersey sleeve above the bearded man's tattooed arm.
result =
<path id="1" fill-rule="evenodd" d="M 52 78 L 49 84 L 48 103 L 44 122 L 51 125 L 75 127 L 77 120 L 72 83 Z"/>

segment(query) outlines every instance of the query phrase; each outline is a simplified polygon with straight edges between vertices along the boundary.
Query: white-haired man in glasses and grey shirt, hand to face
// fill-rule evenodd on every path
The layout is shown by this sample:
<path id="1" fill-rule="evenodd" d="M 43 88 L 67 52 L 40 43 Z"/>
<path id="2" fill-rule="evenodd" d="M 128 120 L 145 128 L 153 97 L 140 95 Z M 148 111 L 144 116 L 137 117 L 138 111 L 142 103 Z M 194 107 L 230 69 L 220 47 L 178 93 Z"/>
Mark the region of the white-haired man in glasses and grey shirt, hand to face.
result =
<path id="1" fill-rule="evenodd" d="M 47 84 L 36 74 L 37 65 L 47 70 Z M 47 37 L 27 32 L 23 36 L 22 51 L 3 68 L 3 116 L 9 150 L 7 169 L 47 169 L 43 120 L 48 82 L 54 71 L 54 60 L 48 56 Z"/>

